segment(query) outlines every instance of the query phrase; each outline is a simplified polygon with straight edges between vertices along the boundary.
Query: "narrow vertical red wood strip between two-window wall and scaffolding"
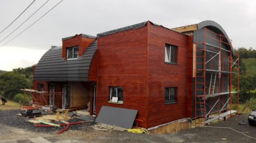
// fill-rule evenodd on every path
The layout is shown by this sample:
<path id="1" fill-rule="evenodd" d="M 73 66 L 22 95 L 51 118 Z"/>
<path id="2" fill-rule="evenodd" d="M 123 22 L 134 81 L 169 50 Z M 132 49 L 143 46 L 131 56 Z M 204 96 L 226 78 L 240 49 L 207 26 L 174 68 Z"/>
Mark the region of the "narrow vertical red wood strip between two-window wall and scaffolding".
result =
<path id="1" fill-rule="evenodd" d="M 192 118 L 193 112 L 193 35 L 187 40 L 187 116 Z"/>

